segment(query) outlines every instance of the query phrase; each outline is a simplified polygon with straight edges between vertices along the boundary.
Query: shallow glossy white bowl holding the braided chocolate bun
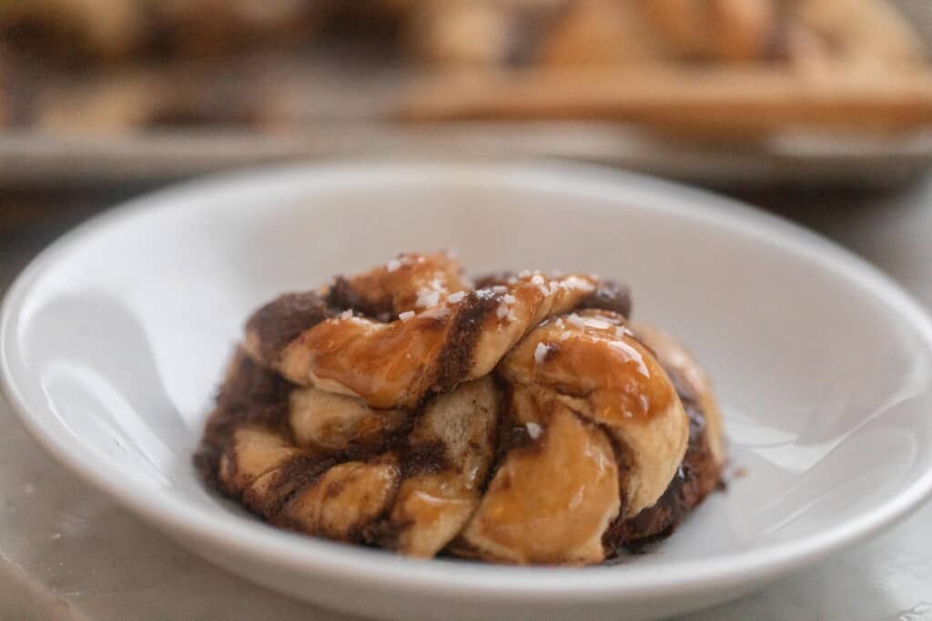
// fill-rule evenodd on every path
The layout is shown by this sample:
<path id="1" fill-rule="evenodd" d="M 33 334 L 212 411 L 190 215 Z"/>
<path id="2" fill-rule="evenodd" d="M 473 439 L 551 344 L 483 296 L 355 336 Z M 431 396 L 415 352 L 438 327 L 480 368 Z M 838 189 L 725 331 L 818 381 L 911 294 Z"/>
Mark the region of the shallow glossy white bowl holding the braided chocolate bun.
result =
<path id="1" fill-rule="evenodd" d="M 717 381 L 747 470 L 620 565 L 416 561 L 275 530 L 190 455 L 256 304 L 398 250 L 475 272 L 628 280 L 635 316 Z M 396 618 L 642 618 L 760 587 L 904 517 L 932 490 L 932 324 L 876 270 L 733 201 L 602 169 L 345 164 L 146 196 L 79 227 L 9 291 L 7 395 L 64 464 L 201 555 L 308 601 Z"/>

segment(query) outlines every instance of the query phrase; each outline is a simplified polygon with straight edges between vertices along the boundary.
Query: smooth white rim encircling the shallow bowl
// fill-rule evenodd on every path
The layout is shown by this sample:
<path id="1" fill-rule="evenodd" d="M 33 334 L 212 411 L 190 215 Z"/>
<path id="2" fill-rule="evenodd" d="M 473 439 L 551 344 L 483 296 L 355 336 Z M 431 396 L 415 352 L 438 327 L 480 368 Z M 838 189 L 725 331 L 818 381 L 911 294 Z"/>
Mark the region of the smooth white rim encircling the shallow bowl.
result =
<path id="1" fill-rule="evenodd" d="M 28 375 L 29 370 L 21 358 L 16 338 L 23 305 L 34 284 L 49 267 L 99 232 L 129 219 L 179 209 L 185 198 L 212 196 L 215 201 L 225 193 L 236 194 L 247 186 L 274 191 L 276 187 L 289 185 L 319 189 L 320 186 L 340 187 L 341 183 L 360 182 L 478 182 L 559 190 L 614 201 L 622 199 L 638 208 L 658 209 L 713 223 L 734 234 L 766 239 L 781 250 L 806 255 L 825 268 L 833 269 L 838 277 L 847 278 L 871 295 L 880 297 L 920 335 L 917 346 L 922 344 L 932 351 L 932 320 L 920 304 L 879 268 L 800 225 L 733 198 L 634 172 L 577 163 L 341 159 L 227 171 L 171 185 L 90 218 L 42 250 L 15 279 L 0 308 L 0 386 L 21 423 L 62 465 L 164 532 L 178 533 L 187 540 L 198 540 L 242 558 L 299 573 L 326 574 L 399 593 L 429 589 L 434 594 L 453 596 L 462 595 L 467 589 L 471 596 L 493 601 L 530 594 L 538 601 L 565 601 L 570 595 L 587 600 L 617 601 L 625 597 L 699 591 L 711 586 L 739 587 L 751 581 L 773 579 L 879 533 L 906 518 L 932 496 L 932 467 L 929 467 L 883 506 L 832 524 L 821 533 L 702 560 L 669 560 L 640 566 L 625 563 L 582 570 L 412 560 L 380 550 L 282 532 L 258 520 L 226 520 L 224 528 L 218 529 L 216 515 L 206 508 L 192 506 L 184 498 L 167 491 L 140 490 L 130 478 L 115 477 L 100 462 L 87 459 L 88 453 L 56 437 L 60 432 L 56 432 L 55 425 L 48 424 L 47 404 L 35 403 L 23 392 L 18 378 Z M 447 571 L 443 571 L 445 569 Z"/>

